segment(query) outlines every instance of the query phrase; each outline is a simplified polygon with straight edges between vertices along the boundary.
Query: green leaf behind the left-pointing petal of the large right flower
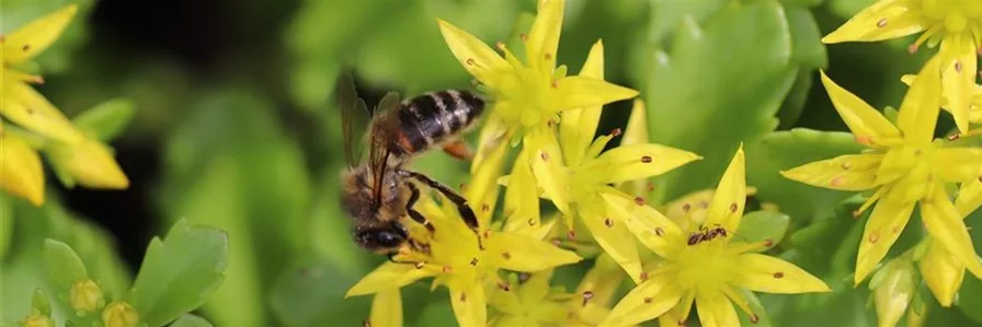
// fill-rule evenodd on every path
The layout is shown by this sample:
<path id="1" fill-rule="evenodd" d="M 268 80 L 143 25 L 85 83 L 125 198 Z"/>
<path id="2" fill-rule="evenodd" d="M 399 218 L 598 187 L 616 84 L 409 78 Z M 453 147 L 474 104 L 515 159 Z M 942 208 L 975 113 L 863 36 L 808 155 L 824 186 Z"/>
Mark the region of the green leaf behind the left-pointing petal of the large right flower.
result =
<path id="1" fill-rule="evenodd" d="M 810 129 L 772 132 L 746 145 L 747 185 L 757 197 L 776 203 L 793 220 L 825 217 L 850 192 L 830 190 L 787 179 L 778 172 L 813 161 L 832 159 L 863 149 L 846 132 Z"/>

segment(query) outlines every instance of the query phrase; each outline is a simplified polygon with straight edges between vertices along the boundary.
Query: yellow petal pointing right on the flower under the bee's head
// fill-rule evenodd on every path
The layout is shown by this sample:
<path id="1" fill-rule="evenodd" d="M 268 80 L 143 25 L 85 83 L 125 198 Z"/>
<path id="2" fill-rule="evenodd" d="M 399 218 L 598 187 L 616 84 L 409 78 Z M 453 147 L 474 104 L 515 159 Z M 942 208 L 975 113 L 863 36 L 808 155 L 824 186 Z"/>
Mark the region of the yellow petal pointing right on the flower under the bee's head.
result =
<path id="1" fill-rule="evenodd" d="M 512 233 L 493 233 L 486 246 L 489 265 L 513 271 L 535 272 L 582 260 L 551 243 Z"/>

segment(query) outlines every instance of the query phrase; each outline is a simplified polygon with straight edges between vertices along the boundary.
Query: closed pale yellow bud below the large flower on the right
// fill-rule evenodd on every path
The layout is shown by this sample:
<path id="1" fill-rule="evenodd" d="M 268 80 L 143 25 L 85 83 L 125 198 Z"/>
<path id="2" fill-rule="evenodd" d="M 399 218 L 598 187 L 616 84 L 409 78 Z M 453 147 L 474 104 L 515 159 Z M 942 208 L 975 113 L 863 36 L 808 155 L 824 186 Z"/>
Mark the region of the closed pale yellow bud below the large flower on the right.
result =
<path id="1" fill-rule="evenodd" d="M 898 258 L 887 264 L 873 276 L 873 303 L 877 307 L 879 326 L 895 326 L 903 317 L 914 296 L 917 283 L 914 280 L 914 264 L 906 258 Z"/>

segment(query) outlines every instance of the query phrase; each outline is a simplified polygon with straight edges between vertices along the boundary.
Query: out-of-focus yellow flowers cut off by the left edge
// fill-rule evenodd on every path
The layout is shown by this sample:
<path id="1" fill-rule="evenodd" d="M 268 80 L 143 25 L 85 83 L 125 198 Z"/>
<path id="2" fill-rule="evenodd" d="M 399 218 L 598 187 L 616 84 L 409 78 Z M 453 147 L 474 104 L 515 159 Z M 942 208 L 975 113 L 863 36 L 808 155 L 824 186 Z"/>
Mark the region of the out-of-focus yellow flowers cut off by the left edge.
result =
<path id="1" fill-rule="evenodd" d="M 0 36 L 0 189 L 35 206 L 44 203 L 45 185 L 37 151 L 73 183 L 106 189 L 129 186 L 95 131 L 75 126 L 28 85 L 42 83 L 39 75 L 16 70 L 54 44 L 77 11 L 69 4 Z"/>

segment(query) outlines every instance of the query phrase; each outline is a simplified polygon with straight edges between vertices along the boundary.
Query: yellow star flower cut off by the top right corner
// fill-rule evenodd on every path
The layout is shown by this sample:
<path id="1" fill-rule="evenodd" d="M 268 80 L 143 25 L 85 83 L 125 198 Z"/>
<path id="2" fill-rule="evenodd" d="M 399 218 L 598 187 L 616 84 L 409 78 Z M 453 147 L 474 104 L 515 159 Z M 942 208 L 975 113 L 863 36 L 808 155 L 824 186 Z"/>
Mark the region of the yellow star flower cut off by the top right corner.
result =
<path id="1" fill-rule="evenodd" d="M 822 38 L 826 44 L 875 42 L 924 32 L 911 46 L 940 42 L 944 92 L 961 132 L 969 129 L 969 108 L 982 48 L 982 1 L 879 0 Z"/>

